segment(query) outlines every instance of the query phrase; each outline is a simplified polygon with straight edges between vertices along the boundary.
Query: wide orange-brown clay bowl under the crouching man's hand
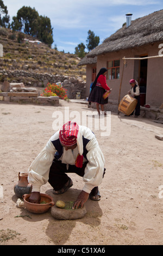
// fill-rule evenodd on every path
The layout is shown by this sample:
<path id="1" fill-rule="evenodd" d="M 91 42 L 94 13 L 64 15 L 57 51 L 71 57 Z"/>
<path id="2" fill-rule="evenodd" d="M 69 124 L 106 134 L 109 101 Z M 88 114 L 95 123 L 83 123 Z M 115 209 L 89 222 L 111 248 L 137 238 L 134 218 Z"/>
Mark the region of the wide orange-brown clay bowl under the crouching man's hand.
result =
<path id="1" fill-rule="evenodd" d="M 23 200 L 24 200 L 24 207 L 34 214 L 43 214 L 43 212 L 46 212 L 54 205 L 53 198 L 49 196 L 48 194 L 41 194 L 41 201 L 40 202 L 47 202 L 47 204 L 34 204 L 29 202 L 30 194 L 24 194 Z"/>

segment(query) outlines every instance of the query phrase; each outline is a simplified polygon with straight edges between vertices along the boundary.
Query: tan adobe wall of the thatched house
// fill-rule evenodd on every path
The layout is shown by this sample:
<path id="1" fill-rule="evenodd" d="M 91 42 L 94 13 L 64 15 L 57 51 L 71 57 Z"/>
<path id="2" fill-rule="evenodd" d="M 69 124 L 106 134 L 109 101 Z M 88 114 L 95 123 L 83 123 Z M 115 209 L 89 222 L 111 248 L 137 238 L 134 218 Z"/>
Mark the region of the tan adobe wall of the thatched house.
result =
<path id="1" fill-rule="evenodd" d="M 133 49 L 129 49 L 126 51 L 117 51 L 112 53 L 103 54 L 97 57 L 97 74 L 98 71 L 106 67 L 106 63 L 108 60 L 120 59 L 120 79 L 116 80 L 107 80 L 107 84 L 110 88 L 112 88 L 112 92 L 109 95 L 109 100 L 113 104 L 118 104 L 118 97 L 120 93 L 120 84 L 122 78 L 122 70 L 123 70 L 123 78 L 121 84 L 121 94 L 120 99 L 122 99 L 130 89 L 129 81 L 130 79 L 138 79 L 139 74 L 139 61 L 138 60 L 126 60 L 126 64 L 123 69 L 123 57 L 126 58 L 135 58 L 140 57 L 142 55 L 150 56 L 158 56 L 159 54 L 159 45 L 160 43 L 155 43 L 153 45 L 137 47 Z M 162 51 L 163 52 L 163 51 Z M 93 65 L 87 65 L 86 67 L 86 96 L 89 96 L 89 88 L 91 84 L 91 68 Z M 152 58 L 148 59 L 147 66 L 147 92 L 146 92 L 146 104 L 151 106 L 160 107 L 163 102 L 163 57 L 160 58 Z"/>

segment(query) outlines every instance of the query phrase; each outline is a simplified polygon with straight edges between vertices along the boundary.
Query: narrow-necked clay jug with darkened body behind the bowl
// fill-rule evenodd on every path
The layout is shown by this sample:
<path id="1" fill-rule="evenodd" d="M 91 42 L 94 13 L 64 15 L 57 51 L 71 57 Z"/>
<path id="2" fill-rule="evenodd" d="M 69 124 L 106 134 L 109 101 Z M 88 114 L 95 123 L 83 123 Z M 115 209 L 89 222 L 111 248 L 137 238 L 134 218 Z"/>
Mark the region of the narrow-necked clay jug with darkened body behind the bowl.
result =
<path id="1" fill-rule="evenodd" d="M 32 192 L 32 184 L 28 183 L 28 173 L 18 173 L 18 182 L 14 185 L 14 192 L 17 197 L 23 197 L 23 194 Z"/>

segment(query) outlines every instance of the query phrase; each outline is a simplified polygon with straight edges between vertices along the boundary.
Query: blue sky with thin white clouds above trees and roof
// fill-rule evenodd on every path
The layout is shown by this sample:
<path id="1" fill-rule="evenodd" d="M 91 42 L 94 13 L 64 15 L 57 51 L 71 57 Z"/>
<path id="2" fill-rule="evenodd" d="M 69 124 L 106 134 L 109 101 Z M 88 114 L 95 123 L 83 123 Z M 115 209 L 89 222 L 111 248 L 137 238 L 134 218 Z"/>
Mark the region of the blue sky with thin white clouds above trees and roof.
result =
<path id="1" fill-rule="evenodd" d="M 100 43 L 115 33 L 126 22 L 126 14 L 132 20 L 163 9 L 163 0 L 4 0 L 10 22 L 23 6 L 35 8 L 39 15 L 51 19 L 53 45 L 59 51 L 74 53 L 83 42 L 86 46 L 87 32 L 99 36 Z"/>

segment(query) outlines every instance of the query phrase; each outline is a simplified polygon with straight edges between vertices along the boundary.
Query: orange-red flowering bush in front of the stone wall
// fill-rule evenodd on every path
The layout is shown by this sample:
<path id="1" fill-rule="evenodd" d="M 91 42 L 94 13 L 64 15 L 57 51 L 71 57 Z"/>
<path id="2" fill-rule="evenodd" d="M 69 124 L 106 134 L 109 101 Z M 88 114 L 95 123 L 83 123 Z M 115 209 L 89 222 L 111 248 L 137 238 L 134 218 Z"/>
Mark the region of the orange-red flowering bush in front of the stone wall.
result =
<path id="1" fill-rule="evenodd" d="M 47 87 L 43 90 L 41 96 L 59 96 L 60 99 L 68 100 L 66 95 L 66 89 L 64 89 L 61 84 L 48 83 Z"/>

